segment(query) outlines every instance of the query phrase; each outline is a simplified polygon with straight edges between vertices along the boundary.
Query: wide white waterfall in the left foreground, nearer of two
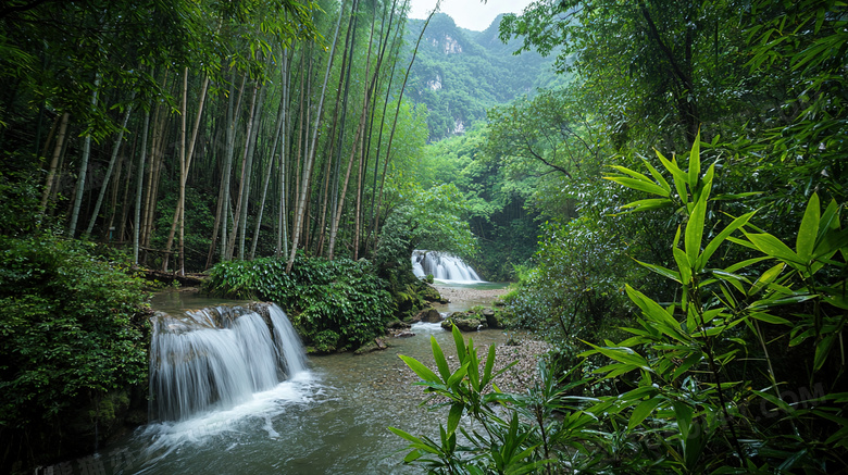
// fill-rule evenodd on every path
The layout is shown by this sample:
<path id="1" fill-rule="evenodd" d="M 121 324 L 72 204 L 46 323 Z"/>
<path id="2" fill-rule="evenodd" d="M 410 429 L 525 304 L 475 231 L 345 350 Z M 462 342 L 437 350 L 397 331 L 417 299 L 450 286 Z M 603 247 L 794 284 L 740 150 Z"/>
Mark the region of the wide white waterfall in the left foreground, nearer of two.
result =
<path id="1" fill-rule="evenodd" d="M 273 303 L 158 312 L 151 323 L 151 420 L 232 408 L 307 370 L 300 338 Z"/>

